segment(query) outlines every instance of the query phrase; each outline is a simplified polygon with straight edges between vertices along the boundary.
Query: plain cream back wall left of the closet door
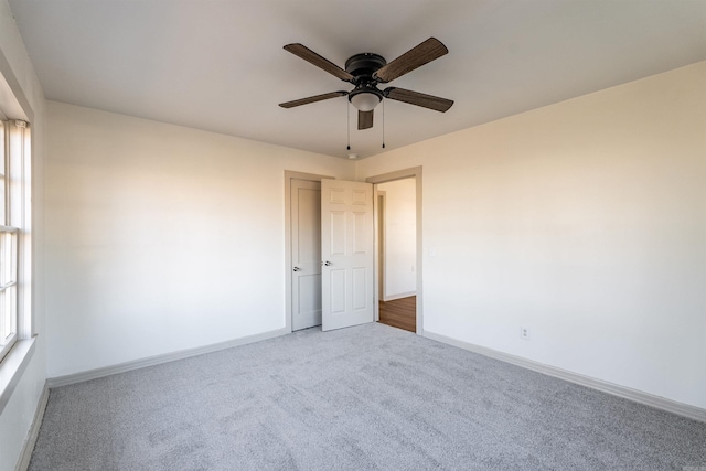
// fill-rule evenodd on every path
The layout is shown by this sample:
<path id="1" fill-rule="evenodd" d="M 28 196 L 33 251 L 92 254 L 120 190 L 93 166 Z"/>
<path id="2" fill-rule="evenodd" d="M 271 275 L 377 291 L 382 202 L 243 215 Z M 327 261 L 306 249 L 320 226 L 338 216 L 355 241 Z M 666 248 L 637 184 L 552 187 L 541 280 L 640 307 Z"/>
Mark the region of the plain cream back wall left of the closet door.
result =
<path id="1" fill-rule="evenodd" d="M 49 101 L 49 375 L 285 328 L 285 170 L 354 163 Z"/>

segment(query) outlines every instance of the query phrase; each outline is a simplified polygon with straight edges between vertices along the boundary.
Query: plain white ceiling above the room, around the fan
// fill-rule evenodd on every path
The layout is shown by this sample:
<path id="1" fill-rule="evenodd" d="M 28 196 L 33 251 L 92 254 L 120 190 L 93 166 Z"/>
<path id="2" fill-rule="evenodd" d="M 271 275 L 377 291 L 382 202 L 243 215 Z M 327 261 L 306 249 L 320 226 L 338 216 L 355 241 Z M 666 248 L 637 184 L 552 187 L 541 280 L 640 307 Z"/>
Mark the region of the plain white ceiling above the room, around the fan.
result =
<path id="1" fill-rule="evenodd" d="M 9 0 L 46 98 L 346 157 L 352 88 L 282 46 L 343 67 L 429 36 L 449 54 L 391 85 L 456 101 L 386 100 L 387 150 L 706 60 L 706 0 Z M 382 114 L 351 152 L 383 151 Z"/>

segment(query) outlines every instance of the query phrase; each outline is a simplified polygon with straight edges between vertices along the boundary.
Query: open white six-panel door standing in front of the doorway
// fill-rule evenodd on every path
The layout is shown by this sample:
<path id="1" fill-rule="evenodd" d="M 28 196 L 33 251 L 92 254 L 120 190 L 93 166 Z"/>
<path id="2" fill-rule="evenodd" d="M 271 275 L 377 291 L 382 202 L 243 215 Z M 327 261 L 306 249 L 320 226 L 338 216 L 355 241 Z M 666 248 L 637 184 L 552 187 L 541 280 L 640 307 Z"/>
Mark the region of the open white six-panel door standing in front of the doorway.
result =
<path id="1" fill-rule="evenodd" d="M 322 180 L 322 330 L 374 321 L 373 255 L 373 185 Z"/>

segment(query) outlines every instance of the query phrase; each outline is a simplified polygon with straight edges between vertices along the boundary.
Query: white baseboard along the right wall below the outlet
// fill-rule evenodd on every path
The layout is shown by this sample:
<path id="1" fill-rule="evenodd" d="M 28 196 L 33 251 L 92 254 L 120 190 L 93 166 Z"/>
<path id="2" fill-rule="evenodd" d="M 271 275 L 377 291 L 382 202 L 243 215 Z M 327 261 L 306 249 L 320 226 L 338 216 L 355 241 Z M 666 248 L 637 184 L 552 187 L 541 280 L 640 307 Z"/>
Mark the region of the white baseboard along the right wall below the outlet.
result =
<path id="1" fill-rule="evenodd" d="M 521 356 L 511 355 L 509 353 L 499 352 L 496 350 L 488 349 L 485 346 L 474 345 L 472 343 L 463 342 L 457 339 L 452 339 L 438 333 L 425 331 L 424 336 L 427 339 L 436 340 L 437 342 L 446 343 L 449 345 L 458 346 L 459 349 L 468 350 L 473 353 L 478 353 L 491 358 L 500 360 L 505 363 L 522 366 L 527 370 L 532 370 L 545 375 L 558 377 L 570 383 L 576 383 L 581 386 L 590 387 L 592 389 L 608 393 L 613 396 L 623 397 L 625 399 L 634 400 L 635 403 L 644 404 L 646 406 L 655 407 L 657 409 L 666 410 L 668 413 L 677 414 L 680 416 L 687 417 L 689 419 L 706 422 L 706 409 L 700 407 L 691 406 L 688 404 L 677 403 L 676 400 L 667 399 L 665 397 L 655 396 L 642 390 L 632 389 L 630 387 L 621 386 L 614 383 L 609 383 L 602 379 L 597 379 L 590 376 L 584 376 L 578 373 L 569 372 L 567 370 L 557 368 L 556 366 L 545 365 L 544 363 L 534 362 L 532 360 L 523 358 Z"/>

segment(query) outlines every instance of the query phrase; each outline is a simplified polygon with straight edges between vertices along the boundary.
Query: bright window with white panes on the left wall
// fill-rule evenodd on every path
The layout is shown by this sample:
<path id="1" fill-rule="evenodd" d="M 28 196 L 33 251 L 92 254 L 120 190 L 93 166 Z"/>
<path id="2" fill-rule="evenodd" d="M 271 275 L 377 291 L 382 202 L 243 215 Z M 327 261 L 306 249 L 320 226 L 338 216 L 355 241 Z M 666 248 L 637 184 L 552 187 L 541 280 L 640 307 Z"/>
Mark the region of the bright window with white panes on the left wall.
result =
<path id="1" fill-rule="evenodd" d="M 18 280 L 29 142 L 26 122 L 0 121 L 0 360 L 12 349 L 20 328 Z"/>

